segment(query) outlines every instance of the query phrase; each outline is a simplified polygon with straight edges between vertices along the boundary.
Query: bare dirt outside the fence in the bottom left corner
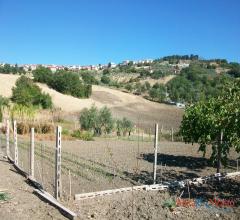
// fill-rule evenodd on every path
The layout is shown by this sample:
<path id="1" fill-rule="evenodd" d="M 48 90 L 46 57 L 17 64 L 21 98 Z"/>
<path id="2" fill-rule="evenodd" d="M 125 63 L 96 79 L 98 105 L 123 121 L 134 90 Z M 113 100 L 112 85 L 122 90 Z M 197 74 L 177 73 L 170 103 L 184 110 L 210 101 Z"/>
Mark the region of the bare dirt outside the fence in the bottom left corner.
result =
<path id="1" fill-rule="evenodd" d="M 1 220 L 61 220 L 66 219 L 57 209 L 33 194 L 33 187 L 25 182 L 14 167 L 0 153 L 0 190 L 6 189 L 7 202 L 0 201 Z"/>

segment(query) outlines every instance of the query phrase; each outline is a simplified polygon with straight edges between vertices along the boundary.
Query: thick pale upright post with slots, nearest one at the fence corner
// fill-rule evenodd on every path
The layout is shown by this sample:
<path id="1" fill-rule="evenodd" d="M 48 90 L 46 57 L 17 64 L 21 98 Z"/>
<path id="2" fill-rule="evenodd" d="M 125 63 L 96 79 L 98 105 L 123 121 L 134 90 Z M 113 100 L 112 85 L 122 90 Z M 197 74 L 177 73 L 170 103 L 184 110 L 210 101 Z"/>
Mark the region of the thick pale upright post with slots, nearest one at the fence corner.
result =
<path id="1" fill-rule="evenodd" d="M 61 133 L 62 128 L 57 126 L 56 131 L 56 157 L 55 157 L 55 198 L 59 200 L 61 197 Z"/>

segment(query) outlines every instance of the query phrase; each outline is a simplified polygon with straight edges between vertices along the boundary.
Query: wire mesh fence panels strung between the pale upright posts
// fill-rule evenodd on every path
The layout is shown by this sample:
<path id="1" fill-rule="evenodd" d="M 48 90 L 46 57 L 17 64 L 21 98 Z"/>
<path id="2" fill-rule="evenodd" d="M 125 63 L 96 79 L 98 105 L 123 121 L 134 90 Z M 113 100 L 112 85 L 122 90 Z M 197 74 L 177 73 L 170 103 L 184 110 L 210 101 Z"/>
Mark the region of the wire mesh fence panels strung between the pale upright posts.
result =
<path id="1" fill-rule="evenodd" d="M 215 173 L 210 164 L 210 151 L 206 158 L 198 153 L 196 145 L 182 142 L 173 129 L 158 131 L 157 158 L 154 154 L 154 131 L 136 128 L 130 136 L 108 135 L 94 141 L 62 141 L 61 195 L 69 200 L 75 194 L 101 190 L 153 184 L 156 160 L 156 183 L 195 178 Z M 15 159 L 13 129 L 9 134 L 9 154 Z M 18 165 L 30 174 L 30 135 L 17 136 Z M 7 151 L 6 134 L 0 133 L 0 145 Z M 56 142 L 35 141 L 34 177 L 54 196 Z M 238 169 L 236 155 L 231 154 L 225 172 Z"/>

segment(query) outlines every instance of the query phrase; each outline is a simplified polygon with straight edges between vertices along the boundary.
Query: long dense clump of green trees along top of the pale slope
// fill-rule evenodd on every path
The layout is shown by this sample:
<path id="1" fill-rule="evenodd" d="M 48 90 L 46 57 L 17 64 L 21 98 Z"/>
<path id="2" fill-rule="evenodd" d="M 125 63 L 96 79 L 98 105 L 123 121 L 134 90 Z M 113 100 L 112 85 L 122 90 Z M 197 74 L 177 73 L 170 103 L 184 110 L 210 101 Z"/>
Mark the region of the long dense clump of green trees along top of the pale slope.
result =
<path id="1" fill-rule="evenodd" d="M 58 70 L 53 73 L 45 67 L 38 67 L 33 71 L 34 81 L 46 83 L 58 92 L 69 94 L 78 98 L 88 98 L 92 94 L 92 85 L 85 84 L 80 80 L 79 74 Z M 89 80 L 88 78 L 85 80 Z"/>

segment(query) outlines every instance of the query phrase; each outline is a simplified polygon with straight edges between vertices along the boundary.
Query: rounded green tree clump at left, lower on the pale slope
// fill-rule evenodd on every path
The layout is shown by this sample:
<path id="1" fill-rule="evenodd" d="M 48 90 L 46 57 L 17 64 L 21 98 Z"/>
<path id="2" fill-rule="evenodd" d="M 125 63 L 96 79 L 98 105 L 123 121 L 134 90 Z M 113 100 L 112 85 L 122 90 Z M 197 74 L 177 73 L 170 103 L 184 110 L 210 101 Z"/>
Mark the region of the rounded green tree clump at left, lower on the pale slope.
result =
<path id="1" fill-rule="evenodd" d="M 43 109 L 52 107 L 52 99 L 45 94 L 34 82 L 25 76 L 21 76 L 15 87 L 12 88 L 12 101 L 27 107 L 40 106 Z"/>

